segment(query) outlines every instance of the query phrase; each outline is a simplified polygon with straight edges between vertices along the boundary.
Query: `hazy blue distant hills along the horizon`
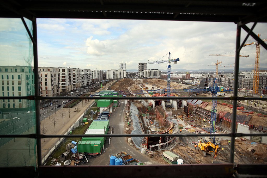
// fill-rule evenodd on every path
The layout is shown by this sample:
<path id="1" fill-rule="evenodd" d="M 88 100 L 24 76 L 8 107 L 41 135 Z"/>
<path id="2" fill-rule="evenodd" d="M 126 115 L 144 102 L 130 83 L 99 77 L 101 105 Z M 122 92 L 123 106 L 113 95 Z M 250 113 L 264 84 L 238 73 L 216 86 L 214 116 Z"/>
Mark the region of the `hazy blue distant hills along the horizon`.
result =
<path id="1" fill-rule="evenodd" d="M 218 69 L 218 72 L 227 72 L 227 73 L 233 73 L 234 68 L 232 69 Z M 251 72 L 251 70 L 254 70 L 254 68 L 239 68 L 239 71 L 248 71 Z M 267 68 L 260 68 L 260 70 L 267 70 Z M 167 69 L 160 69 L 161 72 L 167 72 Z M 136 69 L 128 69 L 126 72 L 138 72 Z M 216 72 L 216 69 L 171 69 L 171 72 L 209 72 L 214 73 Z"/>

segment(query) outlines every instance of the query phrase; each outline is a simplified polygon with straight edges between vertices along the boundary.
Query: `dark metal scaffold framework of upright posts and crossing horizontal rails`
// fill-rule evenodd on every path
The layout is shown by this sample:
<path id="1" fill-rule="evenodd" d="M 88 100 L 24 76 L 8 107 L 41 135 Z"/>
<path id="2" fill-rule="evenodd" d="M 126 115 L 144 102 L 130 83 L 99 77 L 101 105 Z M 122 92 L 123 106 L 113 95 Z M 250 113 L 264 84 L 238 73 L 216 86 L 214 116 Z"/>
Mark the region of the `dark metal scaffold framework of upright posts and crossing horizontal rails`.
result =
<path id="1" fill-rule="evenodd" d="M 29 18 L 29 17 L 28 17 Z M 23 24 L 25 25 L 25 21 L 22 19 Z M 34 61 L 34 88 L 35 88 L 35 95 L 34 96 L 27 96 L 27 97 L 0 97 L 0 99 L 28 99 L 28 100 L 34 100 L 34 101 L 38 101 L 38 100 L 42 100 L 42 99 L 62 99 L 62 98 L 68 98 L 68 97 L 42 97 L 39 96 L 38 91 L 38 54 L 37 54 L 37 23 L 36 23 L 36 18 L 35 17 L 31 17 L 29 18 L 32 22 L 33 22 L 33 37 L 30 36 L 32 42 L 33 42 L 33 61 Z M 242 43 L 242 45 L 240 46 L 240 35 L 241 35 L 241 27 L 248 32 L 248 35 L 246 36 L 245 40 L 248 38 L 249 35 L 251 35 L 254 39 L 256 39 L 265 49 L 267 49 L 267 45 L 266 43 L 264 43 L 260 38 L 257 37 L 256 34 L 254 34 L 252 32 L 252 30 L 254 29 L 254 27 L 256 26 L 257 23 L 254 23 L 254 25 L 252 26 L 251 29 L 249 29 L 248 27 L 246 27 L 244 24 L 242 23 L 237 23 L 237 37 L 236 37 L 236 54 L 235 54 L 235 71 L 234 71 L 234 76 L 235 76 L 235 80 L 234 80 L 234 96 L 233 97 L 225 97 L 223 98 L 223 100 L 233 100 L 233 120 L 232 120 L 232 126 L 231 126 L 231 133 L 229 134 L 216 134 L 216 136 L 230 136 L 231 137 L 231 152 L 230 152 L 230 163 L 233 164 L 234 163 L 234 139 L 235 137 L 242 137 L 242 136 L 267 136 L 267 134 L 242 134 L 242 133 L 235 133 L 235 122 L 236 122 L 236 108 L 237 107 L 237 101 L 238 100 L 253 100 L 253 99 L 261 99 L 260 97 L 250 97 L 250 98 L 246 98 L 246 97 L 238 97 L 238 91 L 237 91 L 237 87 L 238 87 L 238 71 L 239 71 L 239 53 L 240 50 L 242 48 L 242 45 L 244 45 L 244 42 Z M 25 25 L 26 28 L 26 25 Z M 27 28 L 26 28 L 27 29 Z M 29 33 L 29 31 L 27 30 L 27 32 Z M 244 41 L 245 41 L 244 40 Z M 102 97 L 103 99 L 121 99 L 121 97 Z M 192 99 L 192 97 L 165 97 L 165 99 Z M 203 99 L 202 97 L 193 97 L 194 99 Z M 97 99 L 97 97 L 72 97 L 72 99 Z M 124 97 L 125 99 L 133 99 L 133 97 Z M 147 99 L 147 97 L 135 97 L 135 99 Z M 162 99 L 162 97 L 154 97 L 154 99 Z M 222 99 L 219 97 L 206 97 L 205 99 Z M 36 108 L 36 134 L 30 134 L 30 135 L 0 135 L 0 137 L 28 137 L 28 138 L 34 138 L 37 140 L 37 166 L 40 167 L 42 166 L 41 164 L 41 139 L 42 138 L 50 138 L 50 137 L 56 137 L 56 138 L 62 138 L 62 137 L 73 137 L 73 136 L 68 136 L 68 135 L 41 135 L 40 132 L 40 107 L 39 107 L 39 102 L 35 102 L 35 108 Z M 210 136 L 211 134 L 198 134 L 198 136 Z M 103 136 L 103 135 L 90 135 L 90 137 L 99 137 L 99 136 Z M 124 134 L 124 135 L 109 135 L 110 137 L 127 137 L 128 135 Z M 132 137 L 139 137 L 139 136 L 158 136 L 156 134 L 142 134 L 142 135 L 131 135 Z M 162 136 L 170 136 L 168 134 L 163 134 Z M 174 134 L 172 136 L 182 136 L 182 137 L 192 137 L 194 135 L 188 135 L 188 134 Z M 77 135 L 77 137 L 86 137 L 85 135 Z"/>

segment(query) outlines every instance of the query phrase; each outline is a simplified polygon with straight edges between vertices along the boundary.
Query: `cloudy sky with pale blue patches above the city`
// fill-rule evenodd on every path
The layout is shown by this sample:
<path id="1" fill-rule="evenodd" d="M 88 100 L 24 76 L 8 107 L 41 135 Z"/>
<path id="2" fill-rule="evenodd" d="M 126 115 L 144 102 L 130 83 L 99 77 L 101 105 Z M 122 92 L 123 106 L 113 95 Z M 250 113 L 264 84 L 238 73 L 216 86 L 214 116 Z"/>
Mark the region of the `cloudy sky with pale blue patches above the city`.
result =
<path id="1" fill-rule="evenodd" d="M 20 19 L 1 20 L 0 46 L 4 48 L 1 47 L 0 52 L 11 52 L 14 46 L 27 44 L 25 37 L 15 41 L 19 37 L 14 31 L 24 30 L 21 33 L 24 36 L 26 33 L 23 24 L 17 25 Z M 249 28 L 252 25 L 247 24 Z M 221 69 L 230 69 L 235 57 L 210 54 L 235 55 L 236 28 L 236 24 L 227 22 L 41 18 L 37 19 L 38 66 L 108 70 L 119 69 L 119 63 L 124 62 L 127 70 L 138 70 L 139 62 L 167 60 L 170 52 L 171 59 L 179 58 L 177 64 L 171 63 L 172 69 L 215 69 L 217 60 L 226 66 Z M 266 30 L 267 24 L 258 23 L 253 32 L 265 39 Z M 12 36 L 7 35 L 10 31 Z M 241 30 L 241 42 L 246 35 Z M 12 43 L 5 44 L 10 39 Z M 250 36 L 248 41 L 256 40 Z M 17 60 L 28 55 L 21 53 Z M 14 49 L 12 54 L 1 56 L 14 58 Z M 243 47 L 240 55 L 249 55 L 240 57 L 240 68 L 254 68 L 255 45 Z M 261 67 L 267 67 L 267 52 L 263 47 L 260 50 Z M 147 69 L 167 69 L 167 63 L 147 64 Z"/>

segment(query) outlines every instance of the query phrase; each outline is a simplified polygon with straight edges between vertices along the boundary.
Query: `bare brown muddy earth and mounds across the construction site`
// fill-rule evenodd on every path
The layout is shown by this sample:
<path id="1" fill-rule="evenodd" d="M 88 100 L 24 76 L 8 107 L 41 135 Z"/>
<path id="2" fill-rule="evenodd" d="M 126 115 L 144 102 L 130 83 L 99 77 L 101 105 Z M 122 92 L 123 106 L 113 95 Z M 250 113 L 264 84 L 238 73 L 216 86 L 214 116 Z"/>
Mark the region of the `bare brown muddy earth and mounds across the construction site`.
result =
<path id="1" fill-rule="evenodd" d="M 141 90 L 139 84 L 151 84 L 155 86 L 159 86 L 162 88 L 167 87 L 167 82 L 160 79 L 146 79 L 146 80 L 131 80 L 131 79 L 122 79 L 116 82 L 115 86 L 112 86 L 111 89 L 113 90 Z M 183 88 L 182 85 L 171 82 L 171 86 L 175 87 L 176 89 Z M 142 104 L 137 104 L 138 107 L 141 107 Z M 211 110 L 211 102 L 205 107 L 205 109 Z M 217 112 L 224 111 L 224 112 L 232 112 L 232 108 L 230 106 L 224 106 L 220 103 L 217 104 Z M 237 111 L 237 114 L 247 114 Z M 258 117 L 256 113 L 251 114 L 252 117 L 250 119 L 250 125 L 263 125 L 267 126 L 267 118 L 266 117 Z M 128 127 L 127 122 L 125 122 L 125 127 Z M 132 127 L 128 127 L 125 133 L 131 133 Z M 187 132 L 187 131 L 184 131 Z M 203 157 L 197 150 L 194 149 L 194 145 L 191 144 L 192 141 L 198 140 L 199 138 L 196 137 L 189 137 L 183 138 L 178 137 L 173 142 L 172 150 L 173 152 L 177 153 L 180 156 L 180 159 L 184 160 L 184 164 L 209 164 L 212 163 L 214 160 L 219 161 L 221 163 L 227 163 L 230 159 L 230 146 L 228 145 L 228 140 L 221 140 L 221 146 L 218 151 L 217 158 L 211 157 L 207 155 L 207 157 Z M 224 148 L 224 150 L 222 150 Z M 151 160 L 153 162 L 157 162 L 158 164 L 168 164 L 164 161 L 161 157 L 163 151 L 155 151 Z M 252 141 L 243 139 L 243 138 L 236 138 L 235 139 L 235 157 L 234 163 L 235 164 L 262 164 L 267 163 L 267 145 L 265 144 L 258 144 L 253 143 Z"/>

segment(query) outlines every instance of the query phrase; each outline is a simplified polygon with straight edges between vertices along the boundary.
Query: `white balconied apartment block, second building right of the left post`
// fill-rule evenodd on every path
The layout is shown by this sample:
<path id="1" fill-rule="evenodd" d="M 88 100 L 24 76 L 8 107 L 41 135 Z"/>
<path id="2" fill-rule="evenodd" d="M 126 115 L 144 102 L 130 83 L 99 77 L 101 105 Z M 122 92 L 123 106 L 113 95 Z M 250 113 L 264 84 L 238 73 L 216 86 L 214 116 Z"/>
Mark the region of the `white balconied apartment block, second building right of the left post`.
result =
<path id="1" fill-rule="evenodd" d="M 73 69 L 59 68 L 60 72 L 60 93 L 67 94 L 73 89 Z"/>

